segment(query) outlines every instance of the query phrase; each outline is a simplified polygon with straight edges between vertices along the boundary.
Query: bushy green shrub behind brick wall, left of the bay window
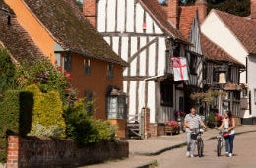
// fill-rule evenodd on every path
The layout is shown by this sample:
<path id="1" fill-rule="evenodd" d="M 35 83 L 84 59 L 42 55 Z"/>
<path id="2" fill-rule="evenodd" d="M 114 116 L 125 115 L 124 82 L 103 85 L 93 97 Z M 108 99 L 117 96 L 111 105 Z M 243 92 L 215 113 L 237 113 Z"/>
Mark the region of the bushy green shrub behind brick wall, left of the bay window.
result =
<path id="1" fill-rule="evenodd" d="M 94 119 L 87 113 L 85 107 L 85 101 L 81 99 L 75 102 L 74 106 L 65 108 L 67 137 L 75 140 L 81 146 L 115 140 L 114 126 L 107 121 Z"/>

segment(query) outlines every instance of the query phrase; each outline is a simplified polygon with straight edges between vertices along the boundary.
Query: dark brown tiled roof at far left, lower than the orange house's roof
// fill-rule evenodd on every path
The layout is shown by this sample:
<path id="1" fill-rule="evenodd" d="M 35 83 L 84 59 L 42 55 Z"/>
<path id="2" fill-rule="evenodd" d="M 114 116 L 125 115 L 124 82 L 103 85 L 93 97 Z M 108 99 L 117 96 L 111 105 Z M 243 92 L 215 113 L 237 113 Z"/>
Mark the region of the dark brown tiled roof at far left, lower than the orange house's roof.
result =
<path id="1" fill-rule="evenodd" d="M 6 6 L 2 0 L 0 0 L 1 6 Z M 37 58 L 44 58 L 40 49 L 34 44 L 27 31 L 19 25 L 14 15 L 11 17 L 11 24 L 8 25 L 8 15 L 9 13 L 4 11 L 0 13 L 0 43 L 18 62 L 32 63 Z"/>

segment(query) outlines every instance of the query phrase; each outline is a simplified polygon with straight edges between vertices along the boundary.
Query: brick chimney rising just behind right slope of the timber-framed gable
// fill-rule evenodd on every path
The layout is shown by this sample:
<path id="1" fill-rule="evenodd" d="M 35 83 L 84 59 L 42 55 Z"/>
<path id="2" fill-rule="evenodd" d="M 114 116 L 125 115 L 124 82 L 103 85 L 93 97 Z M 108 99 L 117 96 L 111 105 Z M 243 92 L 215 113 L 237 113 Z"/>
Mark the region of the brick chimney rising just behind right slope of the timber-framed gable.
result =
<path id="1" fill-rule="evenodd" d="M 168 21 L 171 21 L 175 28 L 177 28 L 178 21 L 178 0 L 168 0 L 167 4 L 162 5 L 162 9 L 165 11 L 168 17 Z"/>

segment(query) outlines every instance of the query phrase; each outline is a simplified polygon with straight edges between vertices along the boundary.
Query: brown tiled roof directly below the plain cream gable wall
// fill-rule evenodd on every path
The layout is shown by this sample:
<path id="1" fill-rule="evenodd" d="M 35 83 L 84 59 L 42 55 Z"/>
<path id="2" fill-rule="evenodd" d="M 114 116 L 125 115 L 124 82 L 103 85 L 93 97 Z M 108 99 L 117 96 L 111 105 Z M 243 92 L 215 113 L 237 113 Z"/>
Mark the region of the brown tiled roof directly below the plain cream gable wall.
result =
<path id="1" fill-rule="evenodd" d="M 201 46 L 203 50 L 203 55 L 208 60 L 230 62 L 238 66 L 244 67 L 242 63 L 240 63 L 235 58 L 230 56 L 221 47 L 219 47 L 217 44 L 212 42 L 209 38 L 207 38 L 203 34 L 201 35 Z"/>

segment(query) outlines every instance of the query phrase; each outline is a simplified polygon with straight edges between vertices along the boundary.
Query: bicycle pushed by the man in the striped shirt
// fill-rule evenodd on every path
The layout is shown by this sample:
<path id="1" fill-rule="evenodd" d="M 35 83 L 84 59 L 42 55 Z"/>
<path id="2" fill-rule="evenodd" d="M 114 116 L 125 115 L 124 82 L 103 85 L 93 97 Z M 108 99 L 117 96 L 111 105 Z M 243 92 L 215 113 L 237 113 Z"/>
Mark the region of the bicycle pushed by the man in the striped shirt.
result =
<path id="1" fill-rule="evenodd" d="M 199 157 L 203 157 L 204 152 L 204 142 L 202 139 L 202 134 L 204 130 L 202 128 L 193 129 L 191 132 L 191 139 L 196 140 L 195 144 L 197 146 L 197 152 Z"/>

